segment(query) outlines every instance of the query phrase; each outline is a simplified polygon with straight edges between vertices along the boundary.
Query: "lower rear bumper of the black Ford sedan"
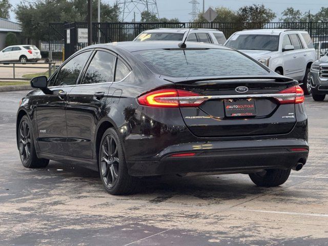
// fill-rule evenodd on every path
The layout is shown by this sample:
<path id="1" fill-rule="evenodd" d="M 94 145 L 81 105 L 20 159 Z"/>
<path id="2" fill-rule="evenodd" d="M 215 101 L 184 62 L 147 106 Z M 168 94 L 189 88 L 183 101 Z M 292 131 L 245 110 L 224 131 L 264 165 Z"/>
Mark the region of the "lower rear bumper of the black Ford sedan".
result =
<path id="1" fill-rule="evenodd" d="M 300 151 L 300 148 L 306 150 Z M 171 157 L 177 153 L 195 155 Z M 158 154 L 159 161 L 127 164 L 132 176 L 201 172 L 248 173 L 263 169 L 289 169 L 298 162 L 305 164 L 308 155 L 309 146 L 304 139 L 213 141 L 170 146 Z"/>

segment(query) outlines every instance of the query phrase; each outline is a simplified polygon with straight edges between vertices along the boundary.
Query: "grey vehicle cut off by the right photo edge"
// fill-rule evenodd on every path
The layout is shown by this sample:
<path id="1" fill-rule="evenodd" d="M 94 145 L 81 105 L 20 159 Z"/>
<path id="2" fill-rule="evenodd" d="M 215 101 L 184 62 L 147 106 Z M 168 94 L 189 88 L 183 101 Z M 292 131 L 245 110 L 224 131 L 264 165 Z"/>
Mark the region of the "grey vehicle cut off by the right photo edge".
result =
<path id="1" fill-rule="evenodd" d="M 312 97 L 323 101 L 328 94 L 328 51 L 311 66 Z"/>

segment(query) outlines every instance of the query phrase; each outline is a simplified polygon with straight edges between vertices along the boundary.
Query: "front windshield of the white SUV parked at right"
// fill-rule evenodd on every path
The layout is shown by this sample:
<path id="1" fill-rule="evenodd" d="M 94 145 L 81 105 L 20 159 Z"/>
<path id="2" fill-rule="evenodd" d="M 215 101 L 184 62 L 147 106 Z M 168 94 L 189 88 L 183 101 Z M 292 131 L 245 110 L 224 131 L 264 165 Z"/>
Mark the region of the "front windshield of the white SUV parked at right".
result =
<path id="1" fill-rule="evenodd" d="M 269 50 L 277 51 L 279 46 L 278 35 L 235 34 L 226 46 L 237 50 Z"/>

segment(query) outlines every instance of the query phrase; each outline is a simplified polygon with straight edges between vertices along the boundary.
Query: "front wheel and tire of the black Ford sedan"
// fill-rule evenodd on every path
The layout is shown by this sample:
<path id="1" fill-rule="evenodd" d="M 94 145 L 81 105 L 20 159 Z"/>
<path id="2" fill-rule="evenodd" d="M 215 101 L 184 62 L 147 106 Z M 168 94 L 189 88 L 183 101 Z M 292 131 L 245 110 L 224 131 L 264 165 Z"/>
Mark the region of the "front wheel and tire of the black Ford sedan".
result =
<path id="1" fill-rule="evenodd" d="M 18 151 L 20 160 L 26 168 L 45 168 L 49 164 L 48 159 L 41 159 L 36 156 L 32 126 L 26 115 L 19 122 Z"/>

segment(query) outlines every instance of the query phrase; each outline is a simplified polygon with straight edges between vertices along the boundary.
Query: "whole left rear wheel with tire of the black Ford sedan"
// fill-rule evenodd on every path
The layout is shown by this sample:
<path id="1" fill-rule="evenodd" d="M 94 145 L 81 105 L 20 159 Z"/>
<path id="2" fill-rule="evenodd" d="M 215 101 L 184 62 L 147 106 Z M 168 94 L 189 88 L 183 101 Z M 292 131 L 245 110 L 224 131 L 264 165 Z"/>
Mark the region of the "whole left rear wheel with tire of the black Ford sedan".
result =
<path id="1" fill-rule="evenodd" d="M 99 175 L 105 190 L 112 195 L 134 193 L 137 179 L 128 174 L 124 149 L 113 128 L 104 133 L 98 152 Z"/>

